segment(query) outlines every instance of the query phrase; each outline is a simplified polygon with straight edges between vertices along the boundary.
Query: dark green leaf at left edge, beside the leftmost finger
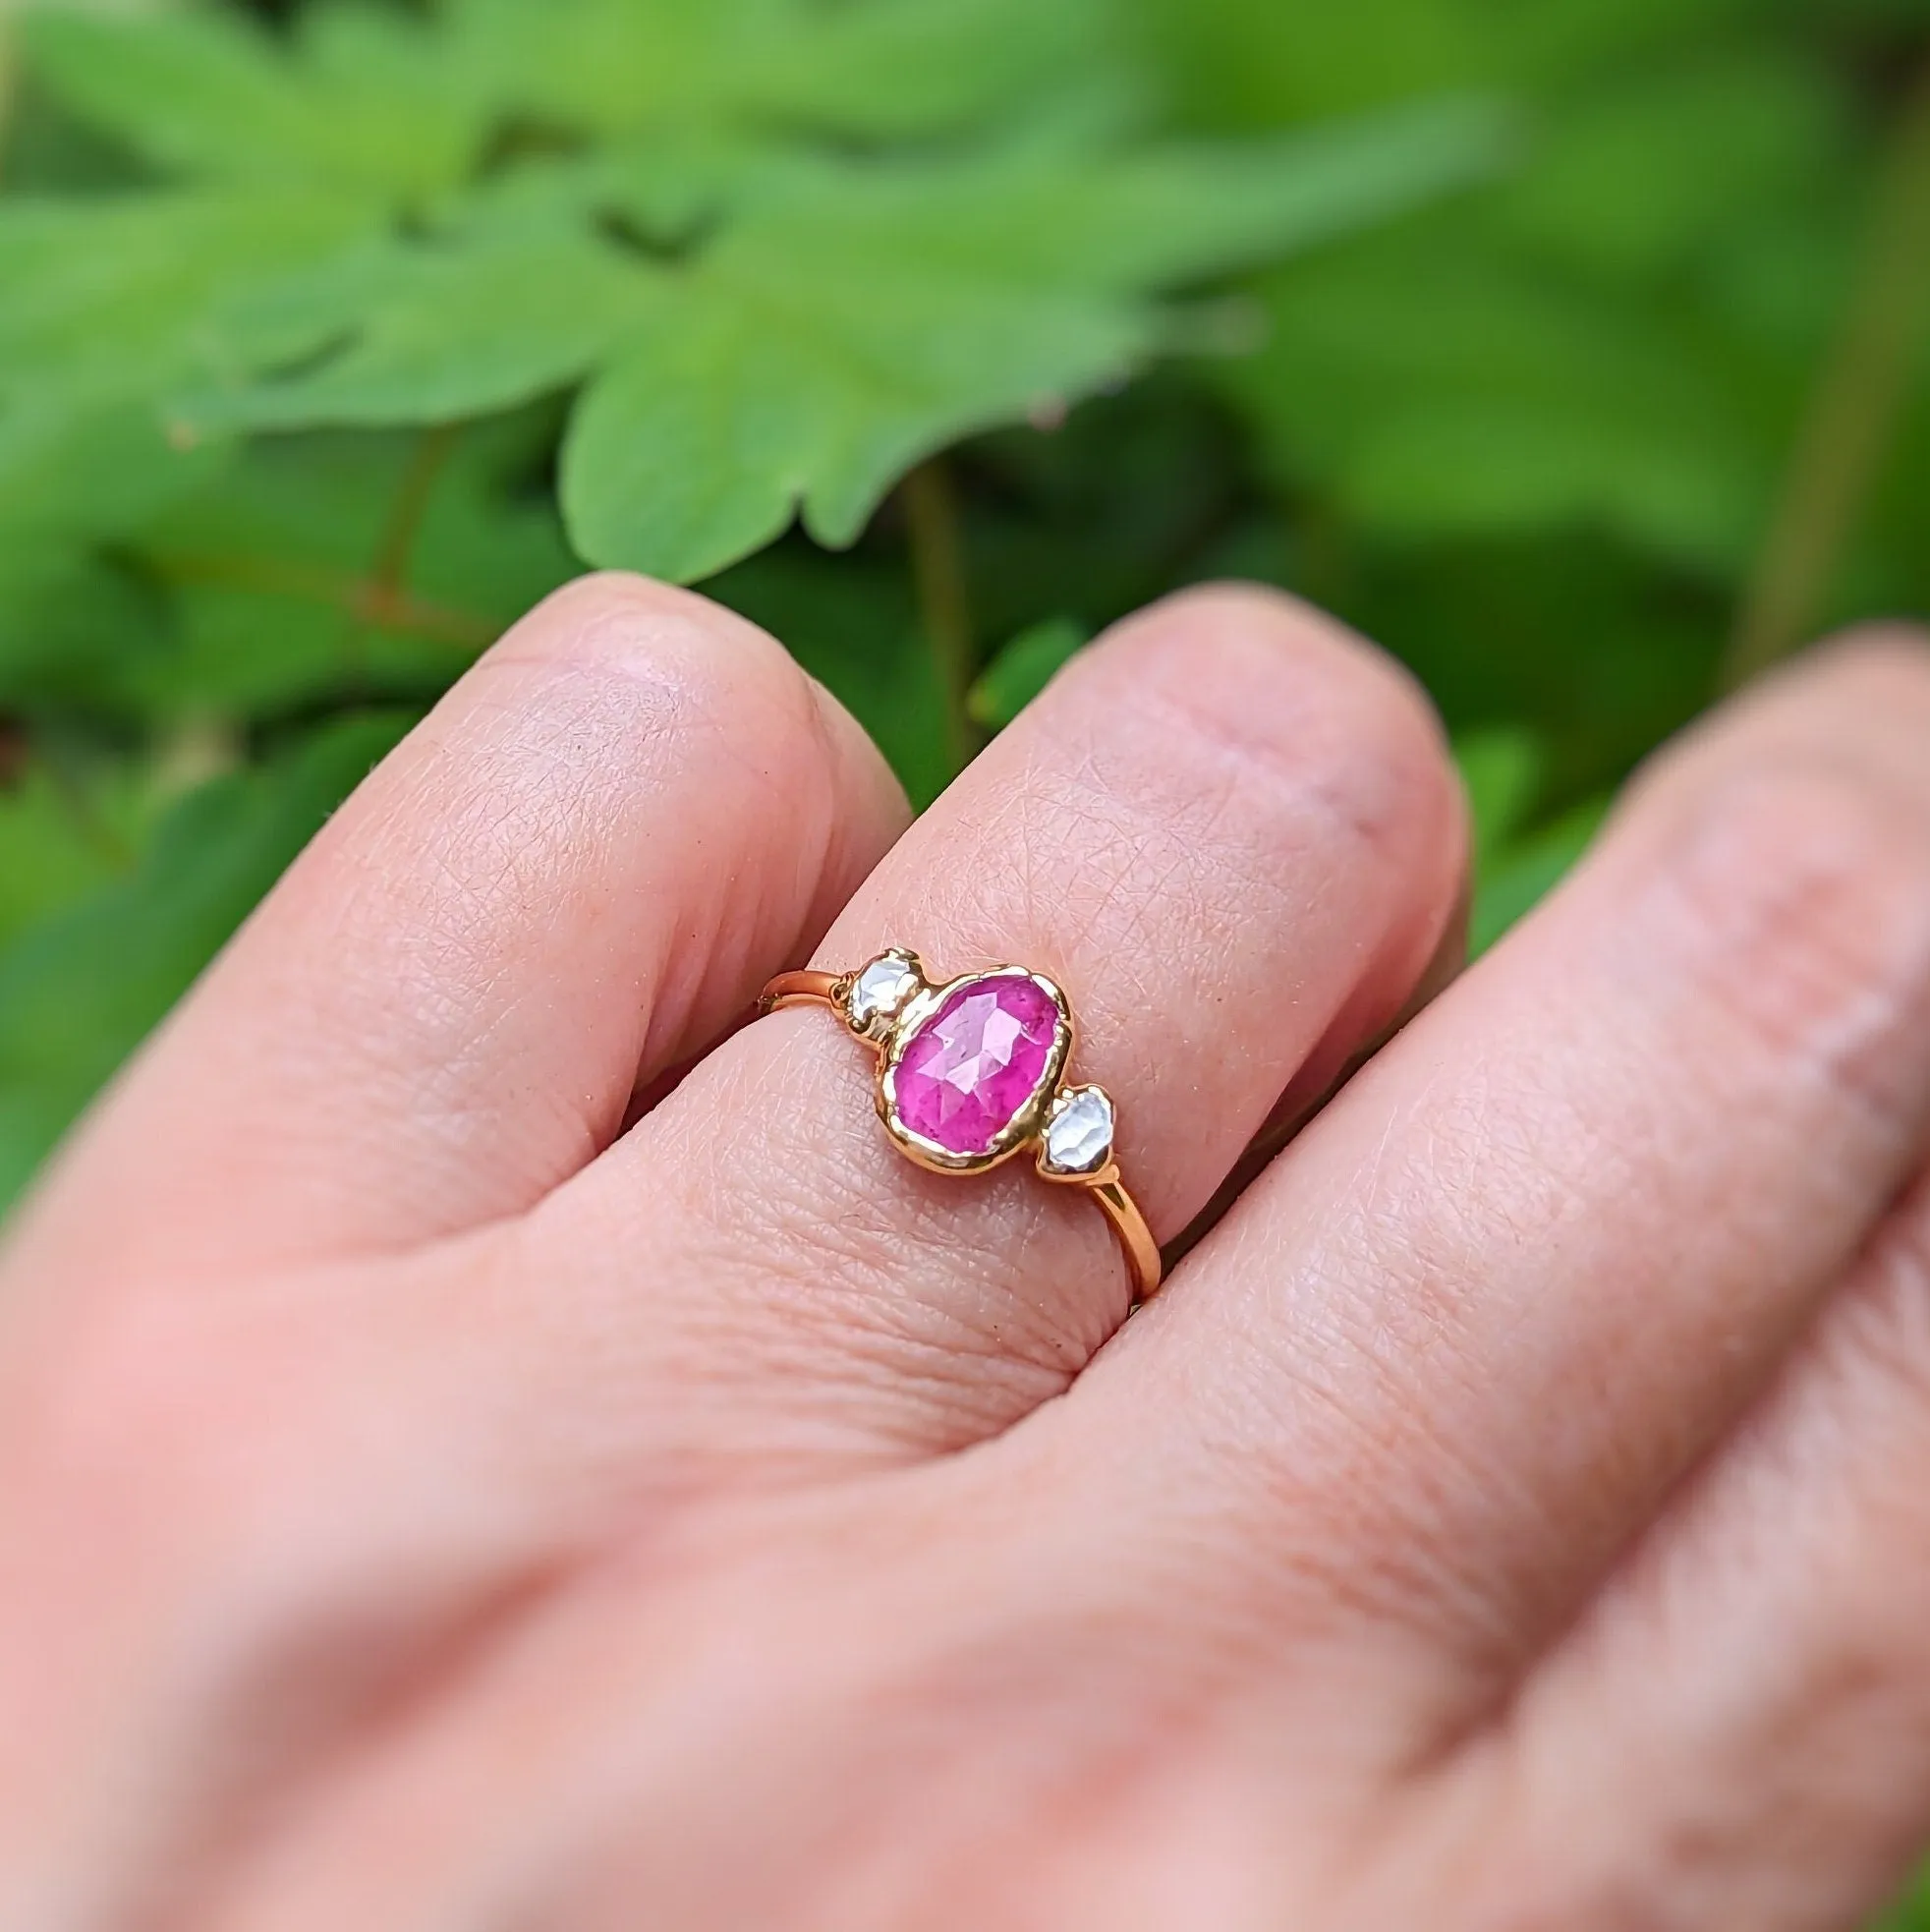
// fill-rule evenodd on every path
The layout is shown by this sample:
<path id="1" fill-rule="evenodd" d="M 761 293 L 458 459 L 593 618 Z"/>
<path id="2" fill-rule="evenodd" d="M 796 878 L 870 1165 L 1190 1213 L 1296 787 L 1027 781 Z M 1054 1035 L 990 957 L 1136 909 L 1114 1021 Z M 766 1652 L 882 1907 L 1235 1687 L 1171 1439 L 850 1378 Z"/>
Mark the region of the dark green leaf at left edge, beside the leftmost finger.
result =
<path id="1" fill-rule="evenodd" d="M 0 1202 L 396 742 L 344 719 L 184 800 L 126 877 L 0 951 Z"/>

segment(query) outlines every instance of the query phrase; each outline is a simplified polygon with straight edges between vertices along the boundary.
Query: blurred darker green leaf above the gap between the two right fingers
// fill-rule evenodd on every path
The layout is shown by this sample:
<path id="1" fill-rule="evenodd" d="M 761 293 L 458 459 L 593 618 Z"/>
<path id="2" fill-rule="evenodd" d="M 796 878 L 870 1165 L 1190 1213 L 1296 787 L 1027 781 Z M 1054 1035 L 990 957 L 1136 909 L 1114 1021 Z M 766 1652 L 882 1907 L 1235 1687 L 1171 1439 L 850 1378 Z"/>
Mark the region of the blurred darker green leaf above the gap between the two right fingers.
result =
<path id="1" fill-rule="evenodd" d="M 1748 354 L 1474 236 L 1385 238 L 1267 284 L 1273 336 L 1229 384 L 1283 471 L 1401 533 L 1602 522 L 1729 568 L 1774 440 Z"/>

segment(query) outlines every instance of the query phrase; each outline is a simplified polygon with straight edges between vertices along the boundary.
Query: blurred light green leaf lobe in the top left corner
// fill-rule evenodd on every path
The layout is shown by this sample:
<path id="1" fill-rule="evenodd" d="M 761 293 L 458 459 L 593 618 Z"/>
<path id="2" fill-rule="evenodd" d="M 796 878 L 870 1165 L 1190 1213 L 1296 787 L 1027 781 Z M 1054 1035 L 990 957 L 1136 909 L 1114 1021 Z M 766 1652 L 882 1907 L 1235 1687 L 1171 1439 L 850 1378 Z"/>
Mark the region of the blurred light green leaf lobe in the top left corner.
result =
<path id="1" fill-rule="evenodd" d="M 435 85 L 431 37 L 390 10 L 334 6 L 303 50 L 240 14 L 41 12 L 35 77 L 168 174 L 421 199 L 462 180 L 479 112 Z"/>

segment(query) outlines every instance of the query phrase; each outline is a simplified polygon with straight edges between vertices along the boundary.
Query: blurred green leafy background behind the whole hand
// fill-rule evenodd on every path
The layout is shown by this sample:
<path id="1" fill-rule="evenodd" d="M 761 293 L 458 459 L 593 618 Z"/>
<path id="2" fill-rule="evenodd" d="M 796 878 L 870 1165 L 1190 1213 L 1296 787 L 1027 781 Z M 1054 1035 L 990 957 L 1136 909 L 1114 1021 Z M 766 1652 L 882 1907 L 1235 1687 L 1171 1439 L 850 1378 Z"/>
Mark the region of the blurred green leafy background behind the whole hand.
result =
<path id="1" fill-rule="evenodd" d="M 920 800 L 1148 597 L 1296 589 L 1441 705 L 1478 945 L 1930 605 L 1930 0 L 6 6 L 0 1202 L 583 562 Z"/>

